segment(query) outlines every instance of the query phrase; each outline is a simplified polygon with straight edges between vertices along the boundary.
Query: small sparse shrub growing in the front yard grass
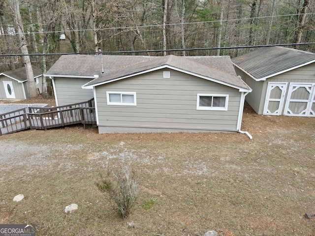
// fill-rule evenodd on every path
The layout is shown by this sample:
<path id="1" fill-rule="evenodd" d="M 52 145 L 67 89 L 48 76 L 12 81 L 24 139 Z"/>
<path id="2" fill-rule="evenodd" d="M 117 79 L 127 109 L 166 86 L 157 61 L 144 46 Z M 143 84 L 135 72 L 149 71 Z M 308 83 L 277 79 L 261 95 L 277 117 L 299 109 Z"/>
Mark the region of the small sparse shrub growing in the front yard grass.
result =
<path id="1" fill-rule="evenodd" d="M 97 188 L 107 193 L 114 208 L 125 219 L 131 213 L 138 195 L 138 184 L 135 173 L 125 170 L 123 172 L 107 174 L 106 178 L 96 182 Z"/>

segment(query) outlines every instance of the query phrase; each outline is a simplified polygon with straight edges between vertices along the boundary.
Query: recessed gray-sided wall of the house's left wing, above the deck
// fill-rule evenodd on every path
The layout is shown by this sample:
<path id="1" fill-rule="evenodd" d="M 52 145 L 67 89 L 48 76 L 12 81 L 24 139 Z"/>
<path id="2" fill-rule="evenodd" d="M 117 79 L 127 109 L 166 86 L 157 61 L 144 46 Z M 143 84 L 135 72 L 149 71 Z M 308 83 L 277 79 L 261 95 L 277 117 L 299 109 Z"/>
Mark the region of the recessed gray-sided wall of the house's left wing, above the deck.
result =
<path id="1" fill-rule="evenodd" d="M 85 102 L 93 98 L 93 89 L 82 89 L 82 85 L 91 79 L 82 78 L 54 78 L 57 91 L 58 106 Z"/>

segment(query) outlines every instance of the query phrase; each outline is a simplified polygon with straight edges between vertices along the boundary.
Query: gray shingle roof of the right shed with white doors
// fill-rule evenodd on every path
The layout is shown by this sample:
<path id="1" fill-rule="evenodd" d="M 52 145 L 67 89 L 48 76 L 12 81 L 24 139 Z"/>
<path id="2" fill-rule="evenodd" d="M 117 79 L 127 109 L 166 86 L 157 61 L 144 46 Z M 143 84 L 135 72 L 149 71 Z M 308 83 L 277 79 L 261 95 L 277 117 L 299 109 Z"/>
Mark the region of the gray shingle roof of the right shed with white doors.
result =
<path id="1" fill-rule="evenodd" d="M 257 80 L 313 60 L 315 53 L 280 46 L 259 48 L 232 59 L 233 63 Z"/>

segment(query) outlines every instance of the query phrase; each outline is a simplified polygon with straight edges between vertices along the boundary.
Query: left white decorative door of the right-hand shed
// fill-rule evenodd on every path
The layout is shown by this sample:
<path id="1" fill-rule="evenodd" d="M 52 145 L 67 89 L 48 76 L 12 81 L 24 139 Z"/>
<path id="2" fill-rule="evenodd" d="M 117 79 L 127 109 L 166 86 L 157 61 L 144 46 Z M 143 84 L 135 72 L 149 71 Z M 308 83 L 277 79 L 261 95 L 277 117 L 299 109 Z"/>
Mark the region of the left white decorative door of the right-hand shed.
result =
<path id="1" fill-rule="evenodd" d="M 263 115 L 281 115 L 287 83 L 268 83 Z"/>

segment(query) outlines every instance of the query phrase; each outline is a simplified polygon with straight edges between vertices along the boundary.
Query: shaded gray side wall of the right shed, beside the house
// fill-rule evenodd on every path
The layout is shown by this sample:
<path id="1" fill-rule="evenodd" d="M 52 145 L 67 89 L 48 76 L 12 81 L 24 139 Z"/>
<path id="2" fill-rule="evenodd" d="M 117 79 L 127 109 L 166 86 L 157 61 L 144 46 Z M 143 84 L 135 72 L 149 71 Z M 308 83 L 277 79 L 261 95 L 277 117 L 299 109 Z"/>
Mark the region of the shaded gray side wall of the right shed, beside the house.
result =
<path id="1" fill-rule="evenodd" d="M 263 107 L 263 104 L 261 104 L 261 97 L 262 97 L 262 89 L 263 89 L 263 81 L 255 81 L 247 75 L 245 72 L 240 70 L 239 68 L 235 67 L 236 74 L 241 76 L 242 80 L 252 89 L 252 92 L 246 95 L 245 100 L 248 102 L 248 104 L 252 107 L 252 109 L 259 113 L 261 106 Z"/>

